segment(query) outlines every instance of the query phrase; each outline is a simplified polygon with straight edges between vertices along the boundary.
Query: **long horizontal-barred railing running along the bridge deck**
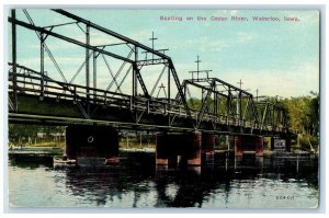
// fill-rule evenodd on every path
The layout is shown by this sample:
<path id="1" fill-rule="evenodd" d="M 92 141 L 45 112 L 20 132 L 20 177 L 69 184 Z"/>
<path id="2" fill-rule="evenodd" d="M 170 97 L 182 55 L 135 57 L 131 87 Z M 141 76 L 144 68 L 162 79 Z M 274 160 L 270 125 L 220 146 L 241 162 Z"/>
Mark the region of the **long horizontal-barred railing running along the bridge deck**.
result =
<path id="1" fill-rule="evenodd" d="M 46 96 L 72 102 L 90 102 L 92 104 L 145 112 L 147 114 L 189 117 L 185 107 L 174 100 L 132 96 L 101 89 L 87 88 L 79 84 L 56 81 L 21 66 L 18 66 L 18 69 L 16 73 L 9 72 L 9 92 L 37 95 L 41 99 Z M 190 108 L 193 121 L 200 118 L 198 113 L 200 110 Z M 270 131 L 286 130 L 283 126 L 261 125 L 254 121 L 238 119 L 235 115 L 218 115 L 211 112 L 204 113 L 202 122 Z"/>

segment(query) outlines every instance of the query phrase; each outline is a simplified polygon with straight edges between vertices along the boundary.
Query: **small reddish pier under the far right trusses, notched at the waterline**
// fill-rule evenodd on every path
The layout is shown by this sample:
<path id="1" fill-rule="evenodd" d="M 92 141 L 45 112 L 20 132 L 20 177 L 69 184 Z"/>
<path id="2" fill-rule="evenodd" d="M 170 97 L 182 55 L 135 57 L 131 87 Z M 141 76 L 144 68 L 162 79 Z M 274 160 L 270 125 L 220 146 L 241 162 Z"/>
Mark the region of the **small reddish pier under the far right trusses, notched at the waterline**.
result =
<path id="1" fill-rule="evenodd" d="M 243 152 L 254 152 L 256 156 L 263 156 L 264 138 L 262 136 L 236 136 L 235 156 L 242 157 Z"/>

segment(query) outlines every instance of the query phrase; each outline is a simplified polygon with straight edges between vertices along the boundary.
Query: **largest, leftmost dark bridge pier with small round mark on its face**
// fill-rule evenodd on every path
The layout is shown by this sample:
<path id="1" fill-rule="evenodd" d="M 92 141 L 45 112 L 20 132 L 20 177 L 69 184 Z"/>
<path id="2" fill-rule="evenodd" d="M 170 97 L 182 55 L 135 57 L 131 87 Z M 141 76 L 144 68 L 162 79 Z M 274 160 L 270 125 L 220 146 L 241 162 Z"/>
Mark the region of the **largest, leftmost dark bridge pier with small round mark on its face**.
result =
<path id="1" fill-rule="evenodd" d="M 79 165 L 118 163 L 118 134 L 110 126 L 68 126 L 66 156 Z"/>

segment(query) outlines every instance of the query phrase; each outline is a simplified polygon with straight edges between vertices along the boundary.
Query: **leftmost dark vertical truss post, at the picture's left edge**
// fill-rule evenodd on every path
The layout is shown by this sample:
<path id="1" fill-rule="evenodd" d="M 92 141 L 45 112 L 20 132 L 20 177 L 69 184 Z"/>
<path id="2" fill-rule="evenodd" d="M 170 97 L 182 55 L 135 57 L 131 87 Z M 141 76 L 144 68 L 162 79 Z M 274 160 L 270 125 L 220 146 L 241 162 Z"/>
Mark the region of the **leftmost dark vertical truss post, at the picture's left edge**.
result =
<path id="1" fill-rule="evenodd" d="M 11 10 L 11 18 L 13 21 L 16 20 L 16 11 Z M 18 81 L 16 81 L 16 25 L 14 22 L 11 23 L 11 34 L 12 34 L 12 71 L 13 71 L 13 99 L 14 99 L 14 110 L 18 111 Z"/>

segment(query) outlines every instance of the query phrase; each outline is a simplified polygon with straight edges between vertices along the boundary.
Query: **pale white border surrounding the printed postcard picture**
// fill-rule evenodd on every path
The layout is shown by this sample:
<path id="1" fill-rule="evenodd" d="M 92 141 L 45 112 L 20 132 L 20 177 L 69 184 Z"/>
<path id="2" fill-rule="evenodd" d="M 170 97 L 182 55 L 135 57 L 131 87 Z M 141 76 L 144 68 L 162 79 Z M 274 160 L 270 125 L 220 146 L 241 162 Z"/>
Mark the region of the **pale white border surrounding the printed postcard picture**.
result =
<path id="1" fill-rule="evenodd" d="M 186 3 L 186 1 L 184 0 L 161 0 L 161 1 L 157 1 L 156 4 L 154 4 L 154 1 L 146 1 L 146 0 L 141 0 L 141 1 L 134 1 L 134 0 L 121 0 L 121 1 L 115 1 L 115 2 L 110 2 L 106 0 L 93 0 L 92 3 L 93 4 L 89 4 L 90 1 L 68 1 L 68 0 L 56 0 L 56 1 L 52 1 L 49 2 L 50 4 L 45 4 L 44 1 L 42 0 L 4 0 L 2 1 L 2 10 L 1 10 L 1 24 L 2 25 L 2 33 L 7 33 L 7 15 L 4 14 L 4 12 L 7 11 L 8 7 L 10 5 L 14 5 L 14 4 L 22 4 L 24 7 L 27 8 L 60 8 L 60 7 L 70 7 L 70 8 L 88 8 L 88 7 L 110 7 L 107 3 L 112 3 L 112 8 L 161 8 L 161 9 L 168 9 L 168 8 L 191 8 L 191 5 L 189 4 L 184 4 Z M 138 4 L 136 4 L 138 3 Z M 228 210 L 212 210 L 212 209 L 150 209 L 150 210 L 145 210 L 145 209 L 111 209 L 111 208 L 106 208 L 106 209 L 84 209 L 84 208 L 78 208 L 78 209 L 69 209 L 69 208 L 60 208 L 60 209 L 19 209 L 15 210 L 14 213 L 23 213 L 23 214 L 5 214 L 5 217 L 18 217 L 18 216 L 24 216 L 24 217 L 38 217 L 38 216 L 44 216 L 42 214 L 46 213 L 67 213 L 70 217 L 72 216 L 73 213 L 83 213 L 86 215 L 79 215 L 79 217 L 90 217 L 90 213 L 117 213 L 121 214 L 121 216 L 125 216 L 123 215 L 123 213 L 125 214 L 131 214 L 131 213 L 136 213 L 137 217 L 145 217 L 146 215 L 143 215 L 144 213 L 147 213 L 147 216 L 171 216 L 171 215 L 151 215 L 149 213 L 175 213 L 178 214 L 178 216 L 180 216 L 180 214 L 182 213 L 192 213 L 194 215 L 189 215 L 189 216 L 195 216 L 195 217 L 200 217 L 201 214 L 207 214 L 207 216 L 223 216 L 223 215 L 212 215 L 208 213 L 235 213 L 235 214 L 245 214 L 247 213 L 247 215 L 232 215 L 232 214 L 225 214 L 225 216 L 228 217 L 232 217 L 232 216 L 252 216 L 252 217 L 258 217 L 258 216 L 269 216 L 269 217 L 277 217 L 281 215 L 277 215 L 277 213 L 280 214 L 285 214 L 286 216 L 298 216 L 298 217 L 309 217 L 309 216 L 319 216 L 319 217 L 325 217 L 327 216 L 328 213 L 328 192 L 325 193 L 325 187 L 324 185 L 326 185 L 325 183 L 325 177 L 326 175 L 328 175 L 328 161 L 326 161 L 326 154 L 328 154 L 328 150 L 326 149 L 326 124 L 329 122 L 327 116 L 326 116 L 326 108 L 327 108 L 327 95 L 326 93 L 326 84 L 327 84 L 327 80 L 328 77 L 326 77 L 326 62 L 328 61 L 328 58 L 326 57 L 326 51 L 327 51 L 327 44 L 326 44 L 326 37 L 327 34 L 327 30 L 328 30 L 328 18 L 326 15 L 326 11 L 328 10 L 328 4 L 326 0 L 268 0 L 268 1 L 249 1 L 249 0 L 227 0 L 227 1 L 220 1 L 222 4 L 216 4 L 218 3 L 215 0 L 202 0 L 202 1 L 197 1 L 197 0 L 189 0 L 190 4 L 194 4 L 192 5 L 193 8 L 200 8 L 200 9 L 205 9 L 205 8 L 228 8 L 228 9 L 241 9 L 241 8 L 247 8 L 247 9 L 263 9 L 263 8 L 271 8 L 271 9 L 290 9 L 290 8 L 294 8 L 294 9 L 307 9 L 307 8 L 314 8 L 315 4 L 322 4 L 321 7 L 321 74 L 320 74 L 320 93 L 321 93 L 321 129 L 320 129 L 320 134 L 321 134 L 321 154 L 320 154 L 320 159 L 321 159 L 321 163 L 320 163 L 320 208 L 318 210 L 304 210 L 304 209 L 299 209 L 299 210 L 291 210 L 291 209 L 261 209 L 261 210 L 254 210 L 254 209 L 243 209 L 243 210 L 232 210 L 232 209 L 228 209 Z M 241 5 L 245 4 L 245 5 Z M 247 3 L 249 3 L 249 5 L 247 5 Z M 262 3 L 262 4 L 258 4 L 258 3 Z M 277 4 L 280 3 L 280 4 Z M 297 4 L 296 4 L 297 3 Z M 132 5 L 134 4 L 134 5 Z M 184 5 L 183 5 L 184 4 Z M 208 5 L 207 5 L 208 4 Z M 212 5 L 209 5 L 212 4 Z M 216 4 L 216 5 L 214 5 Z M 317 5 L 319 7 L 319 5 Z M 4 37 L 4 34 L 1 35 L 1 44 L 0 47 L 3 48 L 3 53 L 1 54 L 1 58 L 0 58 L 0 66 L 7 66 L 4 65 L 7 62 L 7 57 L 5 54 L 8 54 L 7 51 L 7 41 Z M 2 68 L 3 69 L 3 68 Z M 0 84 L 3 84 L 2 89 L 0 89 L 0 99 L 2 101 L 0 101 L 0 110 L 2 112 L 7 111 L 7 101 L 5 100 L 5 95 L 7 95 L 7 76 L 5 73 L 3 73 L 5 71 L 2 71 L 1 76 L 0 76 Z M 0 156 L 3 158 L 0 164 L 0 172 L 1 172 L 1 188 L 0 188 L 0 195 L 2 195 L 3 197 L 8 196 L 7 193 L 7 188 L 8 188 L 8 183 L 7 183 L 7 133 L 8 133 L 8 125 L 7 125 L 7 113 L 2 113 L 0 115 L 0 124 L 1 125 L 1 133 L 0 133 L 0 146 L 2 146 L 2 149 L 0 149 Z M 328 156 L 329 157 L 329 156 Z M 5 185 L 5 188 L 3 188 L 3 185 Z M 325 205 L 326 204 L 326 205 Z M 5 213 L 13 213 L 11 209 L 8 208 L 8 200 L 7 200 L 7 205 L 3 205 L 0 203 L 0 208 L 3 211 L 3 209 L 5 209 Z M 327 208 L 327 211 L 325 211 Z M 32 213 L 32 214 L 30 214 Z M 34 215 L 34 213 L 38 213 L 37 215 Z M 41 214 L 42 213 L 42 214 Z M 251 213 L 257 213 L 254 215 L 252 215 Z M 318 213 L 317 215 L 309 215 L 309 213 Z M 319 214 L 320 213 L 320 214 Z M 266 215 L 263 215 L 266 214 Z M 272 215 L 271 215 L 272 214 Z M 293 215 L 293 214 L 298 214 L 298 215 Z M 49 215 L 46 215 L 49 216 Z M 53 216 L 63 216 L 63 215 L 53 215 Z M 106 214 L 98 214 L 98 216 L 100 217 L 107 217 L 111 215 L 106 215 Z M 136 216 L 136 215 L 134 215 Z"/>

